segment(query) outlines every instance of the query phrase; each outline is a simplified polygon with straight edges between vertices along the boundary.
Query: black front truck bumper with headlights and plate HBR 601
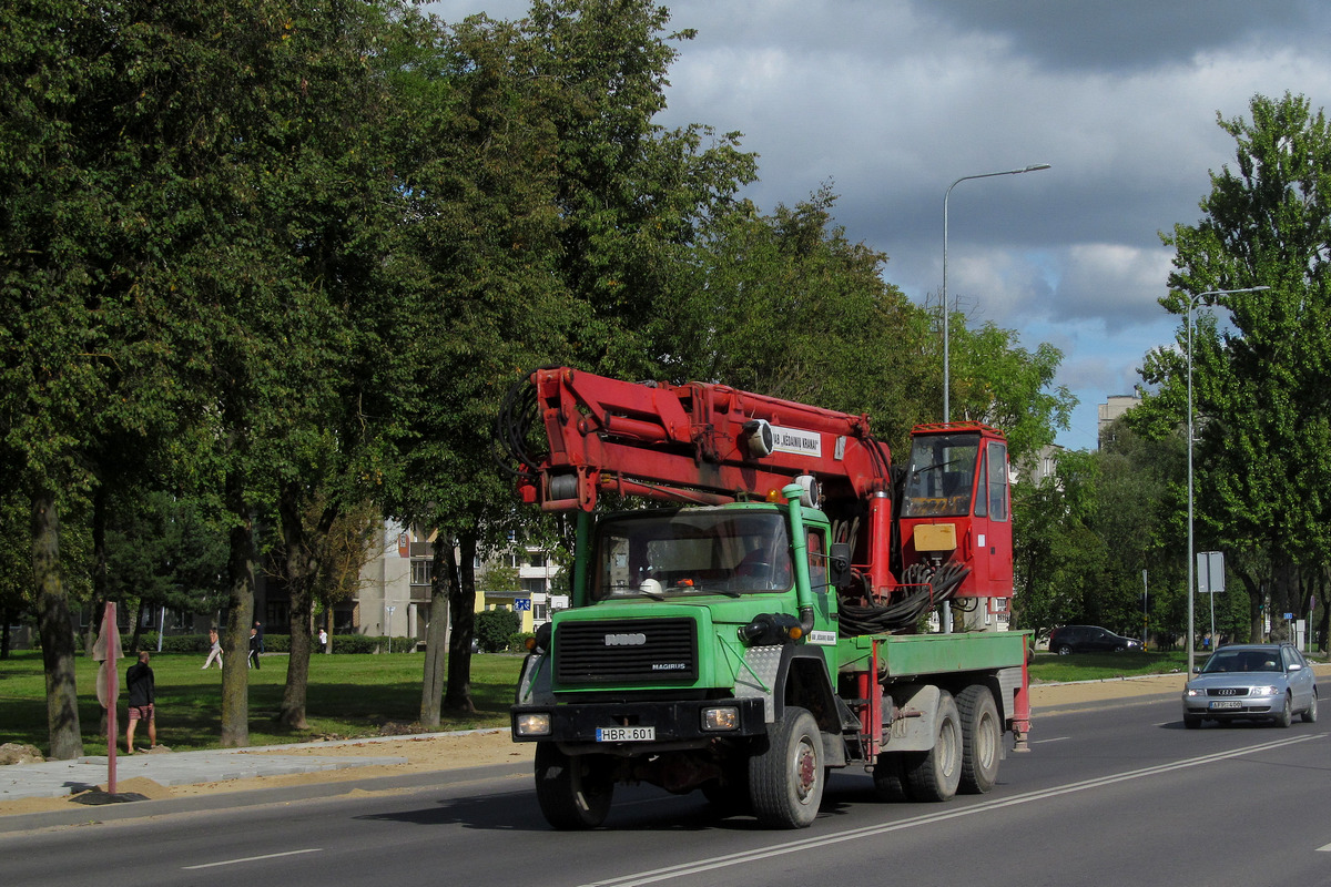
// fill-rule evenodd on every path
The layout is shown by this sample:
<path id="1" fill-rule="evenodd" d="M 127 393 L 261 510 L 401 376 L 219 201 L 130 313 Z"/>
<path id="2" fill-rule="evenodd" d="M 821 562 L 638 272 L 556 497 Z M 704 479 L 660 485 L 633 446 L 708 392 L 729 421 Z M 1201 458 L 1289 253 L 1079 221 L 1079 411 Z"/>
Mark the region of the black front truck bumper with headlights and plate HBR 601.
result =
<path id="1" fill-rule="evenodd" d="M 709 729 L 708 710 L 733 709 L 733 726 Z M 566 702 L 559 705 L 515 705 L 512 741 L 551 739 L 560 746 L 587 746 L 587 750 L 632 751 L 703 746 L 712 739 L 763 735 L 767 733 L 763 699 L 688 699 L 672 702 Z M 539 725 L 547 727 L 540 731 Z M 532 726 L 538 729 L 534 731 Z M 614 730 L 631 727 L 628 731 Z M 607 730 L 612 730 L 608 731 Z M 631 738 L 624 738 L 631 737 Z"/>

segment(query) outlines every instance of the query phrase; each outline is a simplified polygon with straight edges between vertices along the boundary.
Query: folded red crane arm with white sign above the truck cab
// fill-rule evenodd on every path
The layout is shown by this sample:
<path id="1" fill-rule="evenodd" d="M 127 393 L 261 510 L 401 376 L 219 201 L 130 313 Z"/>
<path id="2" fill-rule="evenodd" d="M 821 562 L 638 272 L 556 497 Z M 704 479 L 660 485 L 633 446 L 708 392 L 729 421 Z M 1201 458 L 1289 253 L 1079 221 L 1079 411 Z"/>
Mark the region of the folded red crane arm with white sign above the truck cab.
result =
<path id="1" fill-rule="evenodd" d="M 868 416 L 727 386 L 632 383 L 568 367 L 530 378 L 550 443 L 519 488 L 542 508 L 591 509 L 598 489 L 688 503 L 764 497 L 813 475 L 828 501 L 889 489 Z"/>

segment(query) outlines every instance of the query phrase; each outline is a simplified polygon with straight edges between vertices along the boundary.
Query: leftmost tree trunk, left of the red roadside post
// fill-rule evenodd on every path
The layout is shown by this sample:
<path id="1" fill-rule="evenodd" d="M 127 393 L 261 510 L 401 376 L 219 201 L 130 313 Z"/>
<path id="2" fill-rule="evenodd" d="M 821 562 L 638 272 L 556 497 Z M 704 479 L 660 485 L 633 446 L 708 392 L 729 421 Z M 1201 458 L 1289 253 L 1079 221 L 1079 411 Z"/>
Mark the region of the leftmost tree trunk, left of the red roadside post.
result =
<path id="1" fill-rule="evenodd" d="M 32 577 L 47 676 L 48 757 L 68 761 L 83 755 L 83 734 L 75 678 L 75 628 L 60 574 L 60 511 L 49 489 L 41 489 L 32 497 Z"/>

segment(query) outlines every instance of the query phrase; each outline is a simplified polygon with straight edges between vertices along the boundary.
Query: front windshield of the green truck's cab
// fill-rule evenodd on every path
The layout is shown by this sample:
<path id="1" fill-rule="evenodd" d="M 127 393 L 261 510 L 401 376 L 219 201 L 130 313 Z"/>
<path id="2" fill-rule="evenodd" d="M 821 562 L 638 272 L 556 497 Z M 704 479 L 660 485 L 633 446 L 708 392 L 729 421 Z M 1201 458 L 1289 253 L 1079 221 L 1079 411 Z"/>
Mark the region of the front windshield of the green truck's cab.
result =
<path id="1" fill-rule="evenodd" d="M 595 600 L 787 590 L 791 541 L 776 512 L 610 517 L 596 529 L 592 582 Z"/>

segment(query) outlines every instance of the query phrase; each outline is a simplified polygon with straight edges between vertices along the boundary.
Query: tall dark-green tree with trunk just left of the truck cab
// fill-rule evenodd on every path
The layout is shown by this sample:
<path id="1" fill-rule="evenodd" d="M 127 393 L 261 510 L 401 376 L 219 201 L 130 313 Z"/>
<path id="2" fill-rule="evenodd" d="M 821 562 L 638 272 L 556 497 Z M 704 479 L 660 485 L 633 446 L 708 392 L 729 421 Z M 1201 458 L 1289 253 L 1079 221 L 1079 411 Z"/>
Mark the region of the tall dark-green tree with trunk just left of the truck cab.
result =
<path id="1" fill-rule="evenodd" d="M 405 242 L 430 307 L 415 483 L 395 511 L 458 545 L 437 570 L 451 600 L 446 707 L 471 707 L 474 557 L 516 520 L 490 455 L 503 394 L 546 363 L 650 375 L 644 330 L 675 259 L 752 169 L 696 128 L 652 124 L 675 55 L 667 17 L 647 0 L 538 0 L 519 23 L 455 25 L 401 74 L 417 109 Z"/>

